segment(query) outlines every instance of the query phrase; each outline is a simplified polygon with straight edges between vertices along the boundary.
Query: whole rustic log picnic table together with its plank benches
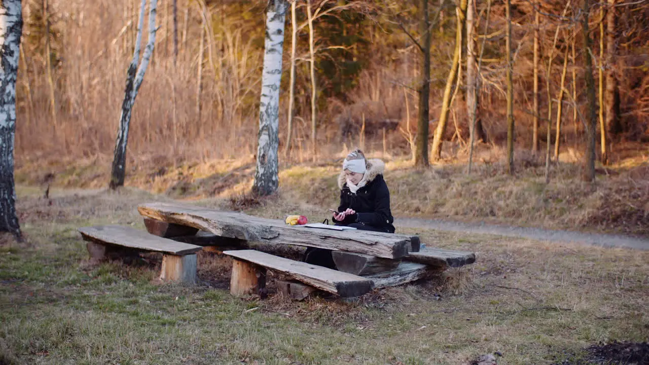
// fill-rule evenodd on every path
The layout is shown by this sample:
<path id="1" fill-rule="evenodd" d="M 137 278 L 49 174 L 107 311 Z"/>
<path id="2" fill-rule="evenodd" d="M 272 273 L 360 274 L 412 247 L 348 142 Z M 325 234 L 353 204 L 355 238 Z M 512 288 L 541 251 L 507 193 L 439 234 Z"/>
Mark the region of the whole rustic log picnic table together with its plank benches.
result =
<path id="1" fill-rule="evenodd" d="M 310 288 L 360 296 L 372 288 L 409 283 L 475 260 L 471 252 L 421 249 L 419 236 L 410 234 L 291 226 L 282 220 L 178 203 L 145 203 L 138 211 L 149 233 L 117 225 L 79 229 L 93 260 L 161 252 L 160 279 L 193 284 L 197 251 L 216 245 L 233 259 L 230 292 L 238 296 L 261 294 L 267 269 L 299 281 L 279 285 L 296 298 Z M 271 252 L 285 245 L 330 249 L 337 270 L 249 249 L 254 242 L 269 245 Z"/>

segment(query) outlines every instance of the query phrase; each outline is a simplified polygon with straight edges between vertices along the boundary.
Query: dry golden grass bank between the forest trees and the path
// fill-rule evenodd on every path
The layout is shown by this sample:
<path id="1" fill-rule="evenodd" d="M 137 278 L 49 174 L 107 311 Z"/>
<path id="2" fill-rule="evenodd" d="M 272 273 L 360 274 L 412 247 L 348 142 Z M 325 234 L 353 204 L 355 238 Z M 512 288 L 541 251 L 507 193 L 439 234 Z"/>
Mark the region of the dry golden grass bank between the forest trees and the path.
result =
<path id="1" fill-rule="evenodd" d="M 479 146 L 473 173 L 465 173 L 466 155 L 458 153 L 428 170 L 415 170 L 410 160 L 384 157 L 386 181 L 395 216 L 422 216 L 451 220 L 480 220 L 550 229 L 581 229 L 647 235 L 649 227 L 649 168 L 646 157 L 635 153 L 618 164 L 598 167 L 595 184 L 581 181 L 581 166 L 562 158 L 550 170 L 545 184 L 543 158 L 517 151 L 516 175 L 506 172 L 497 148 Z M 644 151 L 644 152 L 642 152 Z M 381 156 L 369 153 L 369 156 Z M 319 164 L 288 164 L 280 170 L 280 192 L 271 206 L 308 214 L 311 221 L 329 218 L 326 208 L 338 204 L 336 177 L 343 151 Z M 40 183 L 55 176 L 60 188 L 103 188 L 108 181 L 109 158 L 40 166 L 19 164 L 16 181 L 25 189 L 45 190 Z M 264 211 L 264 201 L 250 195 L 254 160 L 188 162 L 152 156 L 133 161 L 127 185 L 181 199 L 218 198 L 228 209 Z M 40 214 L 38 209 L 31 214 Z"/>

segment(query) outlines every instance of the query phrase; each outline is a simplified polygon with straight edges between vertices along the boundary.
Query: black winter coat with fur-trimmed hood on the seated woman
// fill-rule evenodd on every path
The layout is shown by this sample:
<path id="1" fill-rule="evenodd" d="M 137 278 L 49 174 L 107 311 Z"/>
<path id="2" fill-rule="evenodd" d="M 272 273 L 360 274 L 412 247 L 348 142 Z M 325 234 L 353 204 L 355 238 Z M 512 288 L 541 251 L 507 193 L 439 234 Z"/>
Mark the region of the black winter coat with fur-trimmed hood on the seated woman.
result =
<path id="1" fill-rule="evenodd" d="M 384 164 L 380 160 L 369 160 L 367 174 L 367 183 L 356 191 L 356 194 L 347 186 L 344 173 L 339 177 L 340 205 L 339 212 L 347 208 L 356 210 L 357 214 L 345 217 L 345 220 L 339 224 L 349 225 L 351 223 L 361 223 L 382 227 L 389 233 L 395 232 L 395 226 L 392 225 L 394 218 L 390 210 L 390 192 L 387 189 L 386 181 L 383 179 Z M 334 219 L 334 221 L 336 221 Z"/>

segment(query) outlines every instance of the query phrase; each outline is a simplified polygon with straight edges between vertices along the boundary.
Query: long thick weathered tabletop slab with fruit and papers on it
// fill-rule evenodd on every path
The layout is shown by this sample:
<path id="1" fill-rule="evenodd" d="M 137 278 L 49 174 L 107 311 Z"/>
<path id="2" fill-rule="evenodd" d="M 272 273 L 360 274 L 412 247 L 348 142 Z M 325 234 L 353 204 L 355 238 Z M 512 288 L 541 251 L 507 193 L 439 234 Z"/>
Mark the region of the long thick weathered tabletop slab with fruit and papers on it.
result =
<path id="1" fill-rule="evenodd" d="M 404 257 L 413 249 L 411 236 L 401 234 L 289 226 L 282 220 L 169 203 L 147 203 L 140 205 L 138 210 L 142 216 L 155 220 L 188 225 L 217 236 L 268 244 L 311 246 L 384 258 Z"/>

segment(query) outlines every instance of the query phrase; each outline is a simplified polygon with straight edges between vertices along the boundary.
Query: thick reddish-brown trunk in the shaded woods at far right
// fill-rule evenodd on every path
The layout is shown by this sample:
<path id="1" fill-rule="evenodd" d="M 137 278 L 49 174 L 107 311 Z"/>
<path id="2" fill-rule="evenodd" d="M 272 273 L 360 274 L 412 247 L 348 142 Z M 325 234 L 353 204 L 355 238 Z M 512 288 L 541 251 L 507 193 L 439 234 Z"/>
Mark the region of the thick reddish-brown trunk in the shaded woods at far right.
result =
<path id="1" fill-rule="evenodd" d="M 606 18 L 606 126 L 609 134 L 615 136 L 622 132 L 620 120 L 620 90 L 615 76 L 615 56 L 617 55 L 617 10 L 616 0 L 608 0 Z"/>

